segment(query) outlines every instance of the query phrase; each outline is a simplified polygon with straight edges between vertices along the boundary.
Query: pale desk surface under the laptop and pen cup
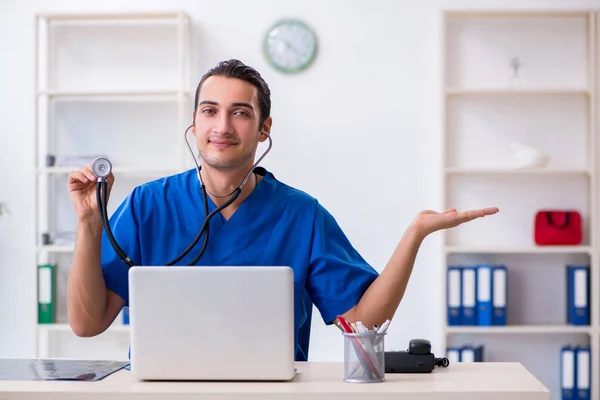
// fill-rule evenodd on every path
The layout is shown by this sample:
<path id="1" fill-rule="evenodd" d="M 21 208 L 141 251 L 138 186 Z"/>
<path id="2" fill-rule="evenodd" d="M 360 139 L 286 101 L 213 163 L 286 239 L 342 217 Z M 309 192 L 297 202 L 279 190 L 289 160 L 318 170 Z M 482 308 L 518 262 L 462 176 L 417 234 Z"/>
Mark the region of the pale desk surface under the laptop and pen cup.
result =
<path id="1" fill-rule="evenodd" d="M 297 363 L 289 382 L 142 382 L 120 370 L 97 382 L 0 381 L 4 399 L 461 399 L 549 400 L 519 363 L 460 363 L 426 374 L 386 374 L 383 383 L 346 383 L 341 363 Z M 485 397 L 484 397 L 485 396 Z"/>

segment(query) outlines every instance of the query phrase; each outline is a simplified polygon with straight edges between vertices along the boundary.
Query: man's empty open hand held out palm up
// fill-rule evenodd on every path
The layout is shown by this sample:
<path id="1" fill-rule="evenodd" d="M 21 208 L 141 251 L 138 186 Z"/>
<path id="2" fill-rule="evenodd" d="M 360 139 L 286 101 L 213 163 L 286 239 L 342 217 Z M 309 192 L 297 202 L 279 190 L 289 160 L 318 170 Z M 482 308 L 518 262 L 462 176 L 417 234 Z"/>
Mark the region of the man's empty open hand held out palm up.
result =
<path id="1" fill-rule="evenodd" d="M 496 207 L 468 211 L 457 211 L 455 208 L 451 208 L 441 213 L 425 210 L 417 215 L 413 224 L 424 236 L 426 236 L 441 229 L 454 228 L 465 222 L 483 218 L 486 215 L 496 214 L 498 211 L 499 210 Z"/>

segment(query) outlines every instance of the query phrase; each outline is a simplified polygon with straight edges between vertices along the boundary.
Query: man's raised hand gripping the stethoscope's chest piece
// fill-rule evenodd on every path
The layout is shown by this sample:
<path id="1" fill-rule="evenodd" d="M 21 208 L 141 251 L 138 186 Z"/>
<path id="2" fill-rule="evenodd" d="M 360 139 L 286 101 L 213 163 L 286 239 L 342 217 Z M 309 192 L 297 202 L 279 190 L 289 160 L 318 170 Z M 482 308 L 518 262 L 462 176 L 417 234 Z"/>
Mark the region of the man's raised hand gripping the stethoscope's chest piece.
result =
<path id="1" fill-rule="evenodd" d="M 107 194 L 106 199 L 110 197 L 110 191 L 115 178 L 111 174 L 107 177 Z M 77 219 L 80 222 L 96 221 L 102 223 L 100 220 L 100 213 L 98 209 L 98 202 L 96 200 L 96 185 L 98 178 L 94 175 L 90 165 L 79 169 L 79 171 L 73 171 L 69 174 L 68 188 L 71 202 L 75 208 Z"/>

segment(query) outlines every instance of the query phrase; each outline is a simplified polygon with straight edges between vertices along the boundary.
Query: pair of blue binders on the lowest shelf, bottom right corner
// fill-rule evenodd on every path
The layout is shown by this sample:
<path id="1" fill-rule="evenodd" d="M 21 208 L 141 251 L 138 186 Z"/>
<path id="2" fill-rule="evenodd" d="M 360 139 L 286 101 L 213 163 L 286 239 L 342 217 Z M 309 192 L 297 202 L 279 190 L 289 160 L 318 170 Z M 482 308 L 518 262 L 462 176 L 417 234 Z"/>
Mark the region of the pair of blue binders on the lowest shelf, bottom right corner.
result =
<path id="1" fill-rule="evenodd" d="M 563 400 L 590 399 L 590 347 L 567 345 L 561 349 L 560 390 Z"/>

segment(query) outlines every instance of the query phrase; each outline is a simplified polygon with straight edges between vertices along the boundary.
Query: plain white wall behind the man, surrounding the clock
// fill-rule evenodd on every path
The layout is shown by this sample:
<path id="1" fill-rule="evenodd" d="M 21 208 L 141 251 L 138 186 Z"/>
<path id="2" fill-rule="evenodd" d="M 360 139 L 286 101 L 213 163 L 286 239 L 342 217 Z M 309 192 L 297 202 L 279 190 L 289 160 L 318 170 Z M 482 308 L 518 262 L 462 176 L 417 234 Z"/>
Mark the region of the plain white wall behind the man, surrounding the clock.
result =
<path id="1" fill-rule="evenodd" d="M 256 4 L 256 5 L 252 5 Z M 419 4 L 419 5 L 417 5 Z M 33 17 L 35 12 L 182 9 L 195 22 L 195 78 L 217 61 L 256 67 L 273 91 L 276 176 L 313 194 L 381 270 L 414 215 L 441 207 L 441 34 L 444 8 L 583 8 L 594 0 L 512 1 L 5 1 L 0 5 L 0 356 L 29 357 L 37 318 L 34 218 Z M 233 11 L 235 10 L 235 14 Z M 306 20 L 319 36 L 316 64 L 286 77 L 260 43 L 277 18 Z M 193 89 L 193 88 L 192 88 Z M 487 206 L 488 204 L 481 204 Z M 364 214 L 363 214 L 364 212 Z M 442 351 L 439 235 L 419 253 L 388 348 L 412 337 Z M 310 357 L 342 356 L 339 332 L 313 324 Z"/>

